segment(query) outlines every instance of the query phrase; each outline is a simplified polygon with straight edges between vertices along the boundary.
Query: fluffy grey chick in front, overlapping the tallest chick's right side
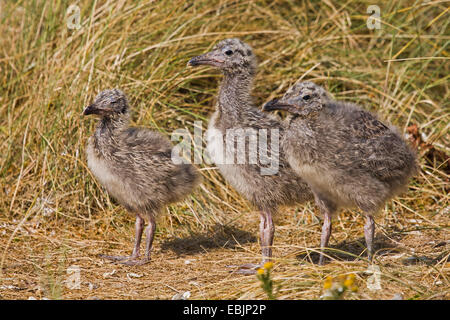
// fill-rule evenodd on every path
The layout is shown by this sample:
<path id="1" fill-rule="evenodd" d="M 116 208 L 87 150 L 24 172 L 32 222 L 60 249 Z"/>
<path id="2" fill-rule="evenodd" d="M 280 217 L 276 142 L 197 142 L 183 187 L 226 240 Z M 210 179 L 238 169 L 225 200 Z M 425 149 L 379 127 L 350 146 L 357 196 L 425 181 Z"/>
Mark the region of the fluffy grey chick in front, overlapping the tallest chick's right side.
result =
<path id="1" fill-rule="evenodd" d="M 331 235 L 339 208 L 360 208 L 369 260 L 373 255 L 373 216 L 406 189 L 417 170 L 416 154 L 397 129 L 355 104 L 331 100 L 312 82 L 298 82 L 264 110 L 286 110 L 282 148 L 289 163 L 311 187 L 324 215 L 321 247 Z M 323 264 L 323 253 L 320 264 Z"/>

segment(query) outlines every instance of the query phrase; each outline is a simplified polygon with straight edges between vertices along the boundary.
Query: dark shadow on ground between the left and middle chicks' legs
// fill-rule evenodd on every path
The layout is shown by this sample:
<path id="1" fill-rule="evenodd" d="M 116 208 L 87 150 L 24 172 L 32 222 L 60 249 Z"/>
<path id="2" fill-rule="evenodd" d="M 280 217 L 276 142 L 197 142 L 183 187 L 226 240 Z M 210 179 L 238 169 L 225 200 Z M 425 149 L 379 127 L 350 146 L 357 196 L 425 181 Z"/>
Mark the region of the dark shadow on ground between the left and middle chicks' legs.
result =
<path id="1" fill-rule="evenodd" d="M 257 238 L 248 231 L 233 226 L 215 225 L 212 231 L 206 233 L 192 233 L 189 237 L 166 240 L 161 243 L 161 250 L 189 255 L 204 252 L 205 249 L 232 249 L 256 241 Z"/>

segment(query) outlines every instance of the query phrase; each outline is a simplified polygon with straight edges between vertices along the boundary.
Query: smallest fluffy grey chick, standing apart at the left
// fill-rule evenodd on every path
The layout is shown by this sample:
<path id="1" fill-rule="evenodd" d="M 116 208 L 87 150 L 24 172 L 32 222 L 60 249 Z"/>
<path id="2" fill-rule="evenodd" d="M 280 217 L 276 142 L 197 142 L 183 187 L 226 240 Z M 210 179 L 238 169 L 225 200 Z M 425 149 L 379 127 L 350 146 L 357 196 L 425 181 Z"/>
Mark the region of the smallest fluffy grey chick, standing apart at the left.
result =
<path id="1" fill-rule="evenodd" d="M 118 89 L 100 92 L 84 115 L 98 115 L 100 121 L 87 144 L 88 167 L 108 193 L 136 215 L 136 241 L 131 256 L 105 256 L 127 265 L 150 261 L 155 218 L 164 206 L 192 192 L 199 181 L 190 164 L 174 164 L 172 145 L 157 132 L 130 128 L 130 110 Z M 148 220 L 145 258 L 139 260 L 142 232 Z"/>

